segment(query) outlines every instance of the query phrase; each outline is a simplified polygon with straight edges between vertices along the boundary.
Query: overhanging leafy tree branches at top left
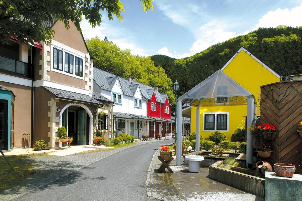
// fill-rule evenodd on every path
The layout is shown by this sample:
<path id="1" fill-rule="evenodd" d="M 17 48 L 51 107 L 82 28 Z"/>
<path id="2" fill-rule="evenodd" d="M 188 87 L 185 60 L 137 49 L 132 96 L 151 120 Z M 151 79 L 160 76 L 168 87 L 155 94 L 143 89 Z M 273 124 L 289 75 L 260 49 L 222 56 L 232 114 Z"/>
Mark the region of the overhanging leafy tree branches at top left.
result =
<path id="1" fill-rule="evenodd" d="M 153 10 L 153 0 L 141 0 L 143 9 Z M 10 36 L 16 37 L 20 43 L 26 41 L 51 41 L 54 31 L 44 28 L 45 21 L 60 20 L 66 29 L 70 22 L 81 31 L 83 17 L 92 27 L 102 22 L 101 12 L 106 13 L 109 20 L 116 16 L 123 20 L 124 5 L 120 0 L 2 0 L 0 1 L 0 38 L 1 43 L 8 43 Z"/>

